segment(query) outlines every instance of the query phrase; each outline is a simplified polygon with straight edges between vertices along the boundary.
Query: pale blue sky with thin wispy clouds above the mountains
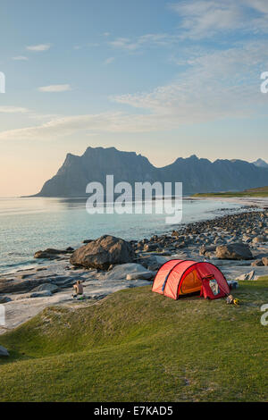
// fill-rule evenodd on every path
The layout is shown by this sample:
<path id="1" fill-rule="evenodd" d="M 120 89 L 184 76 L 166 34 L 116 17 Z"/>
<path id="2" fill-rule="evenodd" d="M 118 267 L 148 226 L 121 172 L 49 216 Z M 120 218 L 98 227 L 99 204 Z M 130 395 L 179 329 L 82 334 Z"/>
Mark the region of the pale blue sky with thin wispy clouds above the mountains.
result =
<path id="1" fill-rule="evenodd" d="M 267 41 L 266 0 L 2 0 L 0 196 L 88 146 L 267 159 Z"/>

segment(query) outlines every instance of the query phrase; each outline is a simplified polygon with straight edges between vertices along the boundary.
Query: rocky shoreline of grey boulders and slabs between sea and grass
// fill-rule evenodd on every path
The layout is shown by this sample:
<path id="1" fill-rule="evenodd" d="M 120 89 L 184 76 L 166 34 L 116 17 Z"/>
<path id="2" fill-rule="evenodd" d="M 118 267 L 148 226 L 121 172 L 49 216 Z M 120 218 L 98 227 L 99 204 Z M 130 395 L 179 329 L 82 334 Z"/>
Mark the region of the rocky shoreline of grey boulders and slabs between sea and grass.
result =
<path id="1" fill-rule="evenodd" d="M 6 324 L 0 333 L 25 322 L 50 305 L 78 307 L 114 291 L 148 284 L 172 258 L 209 260 L 227 279 L 268 275 L 268 211 L 247 210 L 178 229 L 150 239 L 127 242 L 105 235 L 85 239 L 81 248 L 48 248 L 35 257 L 46 266 L 0 277 L 0 304 Z M 71 298 L 73 284 L 85 286 L 85 300 Z"/>

